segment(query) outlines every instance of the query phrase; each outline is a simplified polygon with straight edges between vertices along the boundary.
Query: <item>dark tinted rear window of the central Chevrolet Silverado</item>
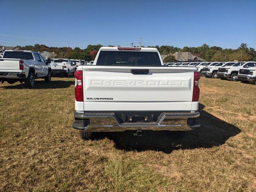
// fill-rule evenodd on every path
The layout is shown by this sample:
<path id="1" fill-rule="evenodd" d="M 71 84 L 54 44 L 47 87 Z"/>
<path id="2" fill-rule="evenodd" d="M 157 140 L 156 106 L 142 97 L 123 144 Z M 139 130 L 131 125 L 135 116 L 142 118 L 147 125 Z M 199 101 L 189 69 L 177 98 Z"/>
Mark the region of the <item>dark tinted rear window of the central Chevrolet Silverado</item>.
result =
<path id="1" fill-rule="evenodd" d="M 158 52 L 100 51 L 96 65 L 161 65 Z"/>

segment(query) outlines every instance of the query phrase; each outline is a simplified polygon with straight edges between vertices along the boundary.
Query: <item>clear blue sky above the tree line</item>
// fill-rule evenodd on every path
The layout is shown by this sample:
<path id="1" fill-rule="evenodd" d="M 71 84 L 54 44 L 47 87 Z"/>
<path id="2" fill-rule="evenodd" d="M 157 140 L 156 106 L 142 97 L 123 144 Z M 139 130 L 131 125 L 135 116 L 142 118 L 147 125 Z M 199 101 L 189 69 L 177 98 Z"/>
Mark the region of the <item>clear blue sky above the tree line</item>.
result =
<path id="1" fill-rule="evenodd" d="M 256 48 L 256 0 L 0 0 L 0 45 Z"/>

